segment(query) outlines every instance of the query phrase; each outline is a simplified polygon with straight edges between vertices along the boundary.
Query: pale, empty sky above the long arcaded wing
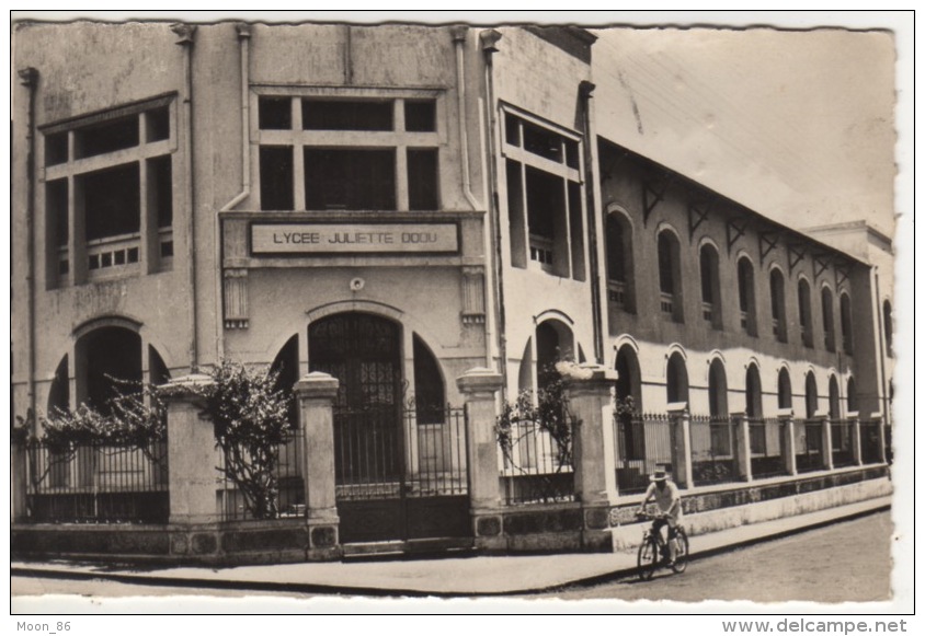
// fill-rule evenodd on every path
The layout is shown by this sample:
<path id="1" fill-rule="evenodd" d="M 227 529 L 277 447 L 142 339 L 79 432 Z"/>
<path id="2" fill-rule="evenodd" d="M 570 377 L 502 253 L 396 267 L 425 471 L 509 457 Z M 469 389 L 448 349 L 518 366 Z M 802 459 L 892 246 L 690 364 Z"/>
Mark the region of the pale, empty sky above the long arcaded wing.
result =
<path id="1" fill-rule="evenodd" d="M 893 230 L 887 32 L 595 31 L 598 134 L 797 228 Z"/>

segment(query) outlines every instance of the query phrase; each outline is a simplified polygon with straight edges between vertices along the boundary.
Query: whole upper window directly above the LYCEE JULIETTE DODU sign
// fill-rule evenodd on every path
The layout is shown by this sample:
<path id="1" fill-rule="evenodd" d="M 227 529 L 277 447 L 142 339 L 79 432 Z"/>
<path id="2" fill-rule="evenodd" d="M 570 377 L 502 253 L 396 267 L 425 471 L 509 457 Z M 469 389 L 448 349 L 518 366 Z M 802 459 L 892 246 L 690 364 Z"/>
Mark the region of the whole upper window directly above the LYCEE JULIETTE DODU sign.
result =
<path id="1" fill-rule="evenodd" d="M 261 209 L 439 209 L 437 111 L 436 96 L 261 95 Z"/>

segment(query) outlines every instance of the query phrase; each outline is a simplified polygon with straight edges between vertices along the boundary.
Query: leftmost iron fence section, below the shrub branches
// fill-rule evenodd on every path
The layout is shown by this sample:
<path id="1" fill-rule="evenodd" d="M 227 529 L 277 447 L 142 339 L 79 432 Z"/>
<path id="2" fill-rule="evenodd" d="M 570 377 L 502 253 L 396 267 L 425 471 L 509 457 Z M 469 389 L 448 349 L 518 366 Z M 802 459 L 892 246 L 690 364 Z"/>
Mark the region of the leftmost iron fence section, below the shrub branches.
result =
<path id="1" fill-rule="evenodd" d="M 35 523 L 167 523 L 167 442 L 145 448 L 30 442 L 28 519 Z"/>

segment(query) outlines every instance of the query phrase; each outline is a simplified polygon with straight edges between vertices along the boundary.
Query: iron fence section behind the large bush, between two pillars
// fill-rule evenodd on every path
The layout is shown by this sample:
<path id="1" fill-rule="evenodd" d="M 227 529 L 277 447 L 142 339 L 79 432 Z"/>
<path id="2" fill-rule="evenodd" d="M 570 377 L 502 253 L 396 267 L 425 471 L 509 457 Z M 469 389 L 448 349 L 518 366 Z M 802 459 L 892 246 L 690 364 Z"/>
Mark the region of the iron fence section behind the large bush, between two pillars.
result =
<path id="1" fill-rule="evenodd" d="M 267 517 L 287 518 L 305 517 L 305 476 L 302 475 L 305 455 L 305 432 L 301 429 L 290 431 L 286 440 L 276 446 L 275 463 L 272 476 L 275 479 L 275 492 L 269 507 Z M 216 507 L 221 521 L 253 520 L 253 502 L 241 490 L 238 484 L 228 476 L 226 467 L 228 456 L 224 449 L 216 447 Z M 269 475 L 252 474 L 253 479 L 266 482 Z"/>

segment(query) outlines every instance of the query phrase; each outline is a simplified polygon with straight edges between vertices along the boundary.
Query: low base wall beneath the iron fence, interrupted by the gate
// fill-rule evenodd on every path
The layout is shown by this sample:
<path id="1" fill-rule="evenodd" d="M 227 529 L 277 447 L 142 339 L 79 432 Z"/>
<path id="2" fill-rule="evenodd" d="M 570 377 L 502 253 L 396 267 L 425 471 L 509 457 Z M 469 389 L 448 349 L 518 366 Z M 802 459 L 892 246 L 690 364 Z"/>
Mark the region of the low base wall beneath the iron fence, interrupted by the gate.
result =
<path id="1" fill-rule="evenodd" d="M 706 534 L 890 495 L 886 465 L 818 475 L 682 490 L 685 527 Z M 616 506 L 580 502 L 480 510 L 475 547 L 483 553 L 635 550 L 642 532 L 633 517 L 641 496 Z M 23 524 L 11 527 L 14 558 L 243 565 L 338 559 L 336 533 L 304 519 L 202 525 Z"/>

